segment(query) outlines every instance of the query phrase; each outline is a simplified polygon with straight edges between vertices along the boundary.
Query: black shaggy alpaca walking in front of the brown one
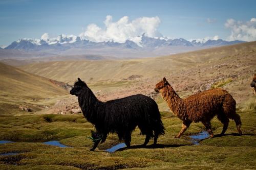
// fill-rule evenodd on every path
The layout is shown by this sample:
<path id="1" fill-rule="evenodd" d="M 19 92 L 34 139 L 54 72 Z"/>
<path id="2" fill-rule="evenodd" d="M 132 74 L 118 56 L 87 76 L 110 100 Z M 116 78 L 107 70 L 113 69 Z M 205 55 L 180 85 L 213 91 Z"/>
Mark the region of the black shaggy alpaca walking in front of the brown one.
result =
<path id="1" fill-rule="evenodd" d="M 124 139 L 127 147 L 130 147 L 131 133 L 137 126 L 141 134 L 146 135 L 144 145 L 153 137 L 156 144 L 158 136 L 164 134 L 158 106 L 153 99 L 145 95 L 137 94 L 101 102 L 79 78 L 70 94 L 78 97 L 84 117 L 96 128 L 96 132 L 92 132 L 92 137 L 98 140 L 94 140 L 91 151 L 95 150 L 100 140 L 103 143 L 109 133 L 117 133 L 118 138 Z"/>

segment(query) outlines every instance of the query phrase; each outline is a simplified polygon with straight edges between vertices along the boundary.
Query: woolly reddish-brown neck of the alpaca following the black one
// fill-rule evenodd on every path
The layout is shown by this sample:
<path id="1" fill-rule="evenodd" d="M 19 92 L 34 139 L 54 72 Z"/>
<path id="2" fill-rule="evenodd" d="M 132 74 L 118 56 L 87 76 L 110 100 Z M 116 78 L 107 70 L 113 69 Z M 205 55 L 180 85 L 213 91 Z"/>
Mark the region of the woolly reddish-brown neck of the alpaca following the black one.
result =
<path id="1" fill-rule="evenodd" d="M 163 90 L 161 90 L 161 94 L 163 99 L 166 101 L 170 110 L 179 118 L 184 118 L 184 112 L 182 112 L 182 108 L 184 108 L 183 99 L 175 92 L 175 90 L 170 85 L 166 85 Z"/>

